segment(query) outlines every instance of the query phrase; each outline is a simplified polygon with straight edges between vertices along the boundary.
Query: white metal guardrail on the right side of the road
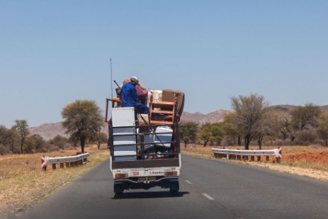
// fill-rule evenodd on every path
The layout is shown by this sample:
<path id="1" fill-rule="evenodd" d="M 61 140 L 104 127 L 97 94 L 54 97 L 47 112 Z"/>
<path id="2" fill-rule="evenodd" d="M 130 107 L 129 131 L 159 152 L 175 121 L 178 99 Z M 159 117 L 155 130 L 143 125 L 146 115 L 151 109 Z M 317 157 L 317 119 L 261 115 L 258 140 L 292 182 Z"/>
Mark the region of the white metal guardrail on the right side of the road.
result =
<path id="1" fill-rule="evenodd" d="M 275 156 L 276 162 L 281 162 L 282 148 L 278 147 L 273 150 L 232 150 L 232 149 L 219 149 L 212 148 L 212 152 L 215 157 L 226 159 L 240 159 L 248 160 L 251 156 L 251 161 L 254 161 L 254 157 L 257 156 L 257 161 L 261 161 L 261 156 L 266 156 L 266 161 L 269 160 L 269 156 Z"/>

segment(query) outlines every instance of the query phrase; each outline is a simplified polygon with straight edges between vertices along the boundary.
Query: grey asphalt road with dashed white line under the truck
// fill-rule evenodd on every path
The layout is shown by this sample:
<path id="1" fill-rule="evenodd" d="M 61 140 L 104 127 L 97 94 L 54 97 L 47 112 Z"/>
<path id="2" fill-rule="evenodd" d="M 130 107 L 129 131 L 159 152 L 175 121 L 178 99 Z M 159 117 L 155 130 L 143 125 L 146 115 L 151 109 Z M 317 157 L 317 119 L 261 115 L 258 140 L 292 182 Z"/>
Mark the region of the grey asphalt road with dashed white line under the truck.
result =
<path id="1" fill-rule="evenodd" d="M 114 198 L 107 160 L 20 218 L 328 218 L 328 182 L 183 155 L 178 196 Z"/>

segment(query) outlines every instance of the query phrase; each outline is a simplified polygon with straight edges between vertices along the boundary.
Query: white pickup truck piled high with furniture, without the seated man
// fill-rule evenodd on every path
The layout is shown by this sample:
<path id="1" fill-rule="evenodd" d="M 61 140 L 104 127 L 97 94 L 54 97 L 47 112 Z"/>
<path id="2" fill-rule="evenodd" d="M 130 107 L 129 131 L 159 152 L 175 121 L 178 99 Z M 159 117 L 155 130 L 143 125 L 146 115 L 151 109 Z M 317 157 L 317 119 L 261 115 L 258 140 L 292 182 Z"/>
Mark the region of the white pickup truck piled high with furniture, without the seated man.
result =
<path id="1" fill-rule="evenodd" d="M 155 186 L 169 189 L 174 196 L 179 193 L 179 120 L 184 94 L 163 90 L 163 99 L 154 94 L 155 91 L 149 92 L 149 113 L 138 115 L 137 120 L 135 108 L 119 107 L 120 99 L 107 99 L 108 149 L 115 197 L 128 189 Z M 110 119 L 109 101 L 112 102 Z"/>

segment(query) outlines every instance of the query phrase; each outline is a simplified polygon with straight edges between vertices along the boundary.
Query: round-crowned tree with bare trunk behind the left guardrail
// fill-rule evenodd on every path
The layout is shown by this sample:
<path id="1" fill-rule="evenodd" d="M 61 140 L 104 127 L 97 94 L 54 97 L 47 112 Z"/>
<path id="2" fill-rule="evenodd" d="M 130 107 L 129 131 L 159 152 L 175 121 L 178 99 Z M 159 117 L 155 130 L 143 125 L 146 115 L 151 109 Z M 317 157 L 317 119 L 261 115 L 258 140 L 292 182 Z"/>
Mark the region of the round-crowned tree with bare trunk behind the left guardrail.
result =
<path id="1" fill-rule="evenodd" d="M 101 130 L 103 116 L 95 101 L 77 100 L 69 103 L 62 110 L 62 126 L 66 133 L 78 137 L 81 143 L 81 152 L 84 153 L 86 140 Z"/>

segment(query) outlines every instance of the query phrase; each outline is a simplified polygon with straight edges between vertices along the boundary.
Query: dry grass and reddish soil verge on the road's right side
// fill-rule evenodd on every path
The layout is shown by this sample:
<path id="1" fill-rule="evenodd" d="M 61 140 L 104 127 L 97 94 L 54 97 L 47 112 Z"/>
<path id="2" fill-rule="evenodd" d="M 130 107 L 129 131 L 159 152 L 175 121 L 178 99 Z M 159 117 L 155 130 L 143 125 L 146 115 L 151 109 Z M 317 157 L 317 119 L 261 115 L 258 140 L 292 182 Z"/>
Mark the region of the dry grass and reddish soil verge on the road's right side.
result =
<path id="1" fill-rule="evenodd" d="M 181 145 L 183 146 L 183 145 Z M 203 147 L 203 145 L 187 145 L 181 147 L 181 152 L 188 155 L 197 155 L 215 159 L 213 147 Z M 222 148 L 222 147 L 221 147 Z M 229 146 L 225 148 L 240 149 L 242 146 Z M 263 150 L 272 150 L 277 147 L 263 147 Z M 259 150 L 258 147 L 251 146 L 250 150 Z M 269 162 L 240 162 L 230 160 L 231 162 L 240 162 L 243 164 L 256 165 L 274 169 L 280 172 L 288 172 L 301 176 L 309 176 L 315 179 L 328 181 L 328 147 L 318 145 L 310 146 L 283 146 L 283 157 L 280 164 L 275 163 L 275 157 L 270 158 Z"/>

